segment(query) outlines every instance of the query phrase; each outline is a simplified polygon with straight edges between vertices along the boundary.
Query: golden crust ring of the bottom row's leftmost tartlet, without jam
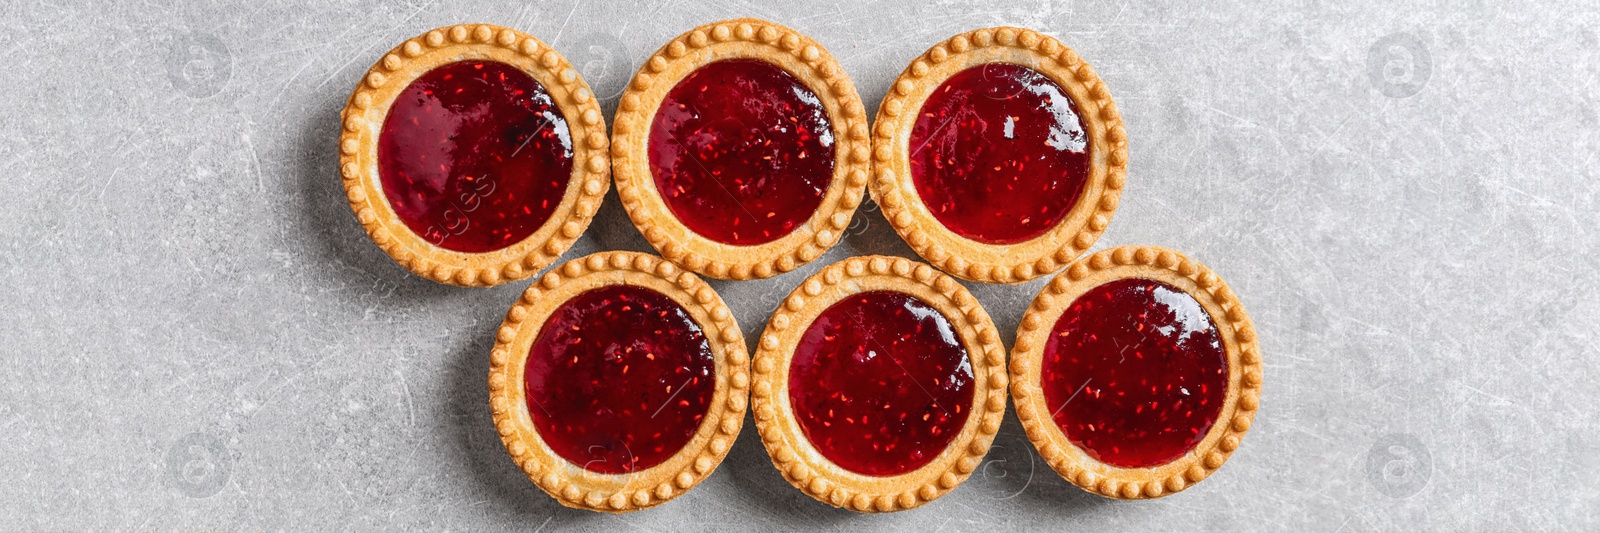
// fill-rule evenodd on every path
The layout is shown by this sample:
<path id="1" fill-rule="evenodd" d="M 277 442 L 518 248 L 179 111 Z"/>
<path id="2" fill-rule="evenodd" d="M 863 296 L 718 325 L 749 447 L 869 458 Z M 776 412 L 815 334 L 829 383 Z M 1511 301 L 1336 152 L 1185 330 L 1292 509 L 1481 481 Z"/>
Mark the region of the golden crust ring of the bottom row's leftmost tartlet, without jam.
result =
<path id="1" fill-rule="evenodd" d="M 677 455 L 629 474 L 600 474 L 557 455 L 528 415 L 523 370 L 546 319 L 573 296 L 605 285 L 637 285 L 683 306 L 715 354 L 717 384 L 699 429 Z M 653 254 L 602 251 L 568 261 L 528 287 L 506 314 L 490 352 L 490 408 L 512 461 L 563 506 L 629 512 L 658 506 L 704 480 L 733 447 L 749 402 L 750 357 L 744 335 L 717 291 Z"/>

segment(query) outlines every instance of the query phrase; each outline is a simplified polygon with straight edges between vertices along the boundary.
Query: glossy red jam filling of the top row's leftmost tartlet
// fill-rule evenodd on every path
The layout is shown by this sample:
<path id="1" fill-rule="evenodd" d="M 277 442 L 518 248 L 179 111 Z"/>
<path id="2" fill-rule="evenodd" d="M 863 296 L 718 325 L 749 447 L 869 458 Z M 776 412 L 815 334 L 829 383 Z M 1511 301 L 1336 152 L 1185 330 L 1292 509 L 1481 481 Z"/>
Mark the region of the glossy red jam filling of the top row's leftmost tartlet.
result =
<path id="1" fill-rule="evenodd" d="M 446 250 L 510 246 L 544 226 L 566 194 L 573 139 L 539 82 L 496 61 L 461 61 L 416 78 L 378 136 L 378 174 L 413 232 Z"/>

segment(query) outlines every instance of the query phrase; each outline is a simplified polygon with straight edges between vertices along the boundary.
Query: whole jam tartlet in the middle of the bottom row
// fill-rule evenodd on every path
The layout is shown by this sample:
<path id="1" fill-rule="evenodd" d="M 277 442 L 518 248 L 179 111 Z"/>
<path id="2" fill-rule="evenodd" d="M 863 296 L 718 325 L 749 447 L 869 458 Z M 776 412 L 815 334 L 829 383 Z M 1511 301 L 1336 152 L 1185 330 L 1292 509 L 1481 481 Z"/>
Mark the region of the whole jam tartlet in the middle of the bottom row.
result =
<path id="1" fill-rule="evenodd" d="M 1006 405 L 1005 347 L 955 279 L 904 258 L 824 267 L 773 314 L 755 354 L 755 426 L 818 501 L 890 512 L 971 475 Z"/>

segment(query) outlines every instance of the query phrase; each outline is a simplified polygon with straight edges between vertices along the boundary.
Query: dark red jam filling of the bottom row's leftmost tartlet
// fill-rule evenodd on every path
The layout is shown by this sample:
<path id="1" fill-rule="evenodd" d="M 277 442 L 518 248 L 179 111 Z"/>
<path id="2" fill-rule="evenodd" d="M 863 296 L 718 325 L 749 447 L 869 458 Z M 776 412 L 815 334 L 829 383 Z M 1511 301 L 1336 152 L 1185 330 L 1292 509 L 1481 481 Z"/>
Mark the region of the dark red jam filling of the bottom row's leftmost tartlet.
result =
<path id="1" fill-rule="evenodd" d="M 523 381 L 533 426 L 555 453 L 621 474 L 661 464 L 694 437 L 717 370 L 683 307 L 648 288 L 608 285 L 550 314 Z"/>

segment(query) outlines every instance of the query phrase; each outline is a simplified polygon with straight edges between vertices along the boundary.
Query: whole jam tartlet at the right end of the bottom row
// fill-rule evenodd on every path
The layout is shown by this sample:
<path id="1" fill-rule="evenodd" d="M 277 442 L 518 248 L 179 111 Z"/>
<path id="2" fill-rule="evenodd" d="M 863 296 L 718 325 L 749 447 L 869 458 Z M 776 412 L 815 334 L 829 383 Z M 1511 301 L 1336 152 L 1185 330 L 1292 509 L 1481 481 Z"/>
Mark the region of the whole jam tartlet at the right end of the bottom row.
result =
<path id="1" fill-rule="evenodd" d="M 1238 448 L 1261 405 L 1261 347 L 1210 269 L 1118 246 L 1074 262 L 1034 299 L 1011 351 L 1011 397 L 1061 477 L 1107 498 L 1160 498 Z"/>

